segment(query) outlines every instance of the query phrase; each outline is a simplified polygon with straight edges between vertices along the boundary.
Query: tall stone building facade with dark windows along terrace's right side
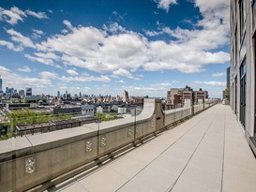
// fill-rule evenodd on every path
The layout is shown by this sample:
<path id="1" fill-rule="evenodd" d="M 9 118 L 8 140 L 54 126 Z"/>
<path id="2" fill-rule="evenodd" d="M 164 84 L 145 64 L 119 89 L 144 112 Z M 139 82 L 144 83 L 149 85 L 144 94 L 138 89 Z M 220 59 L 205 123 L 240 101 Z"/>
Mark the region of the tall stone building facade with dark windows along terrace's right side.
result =
<path id="1" fill-rule="evenodd" d="M 231 106 L 255 150 L 255 0 L 231 0 L 230 16 Z"/>

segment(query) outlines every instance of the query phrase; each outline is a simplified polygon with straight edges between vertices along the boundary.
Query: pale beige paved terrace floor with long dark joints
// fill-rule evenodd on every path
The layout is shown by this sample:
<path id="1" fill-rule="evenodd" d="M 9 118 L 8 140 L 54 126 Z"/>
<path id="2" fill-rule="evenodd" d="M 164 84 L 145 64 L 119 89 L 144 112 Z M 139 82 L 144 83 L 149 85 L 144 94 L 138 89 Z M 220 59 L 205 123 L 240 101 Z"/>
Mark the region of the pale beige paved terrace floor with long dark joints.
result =
<path id="1" fill-rule="evenodd" d="M 256 191 L 256 160 L 229 106 L 218 104 L 48 191 Z"/>

